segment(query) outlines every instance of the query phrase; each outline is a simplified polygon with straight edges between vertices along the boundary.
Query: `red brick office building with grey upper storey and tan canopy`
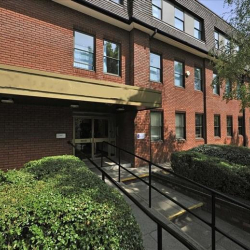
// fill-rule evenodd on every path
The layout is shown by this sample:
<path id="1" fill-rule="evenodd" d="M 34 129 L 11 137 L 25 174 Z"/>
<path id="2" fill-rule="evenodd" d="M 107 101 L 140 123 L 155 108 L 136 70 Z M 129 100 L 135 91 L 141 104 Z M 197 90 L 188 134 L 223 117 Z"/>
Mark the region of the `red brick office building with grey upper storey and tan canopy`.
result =
<path id="1" fill-rule="evenodd" d="M 0 168 L 75 153 L 69 140 L 92 158 L 107 140 L 154 162 L 248 146 L 249 110 L 211 87 L 208 52 L 230 28 L 196 0 L 1 1 Z"/>

